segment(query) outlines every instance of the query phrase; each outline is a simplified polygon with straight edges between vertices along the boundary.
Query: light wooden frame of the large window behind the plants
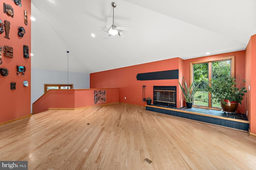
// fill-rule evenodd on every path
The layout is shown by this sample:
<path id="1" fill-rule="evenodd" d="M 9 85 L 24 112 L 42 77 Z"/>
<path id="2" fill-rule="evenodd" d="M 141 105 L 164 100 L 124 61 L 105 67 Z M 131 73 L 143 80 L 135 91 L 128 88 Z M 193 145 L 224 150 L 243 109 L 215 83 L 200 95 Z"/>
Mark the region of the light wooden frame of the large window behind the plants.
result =
<path id="1" fill-rule="evenodd" d="M 208 63 L 208 83 L 210 84 L 210 80 L 212 79 L 212 63 L 216 61 L 227 61 L 227 60 L 231 60 L 231 70 L 230 70 L 231 76 L 235 76 L 235 56 L 234 55 L 228 56 L 228 57 L 200 60 L 200 61 L 191 61 L 190 62 L 190 84 L 192 84 L 192 81 L 194 80 L 194 64 Z M 193 104 L 193 106 L 195 105 Z M 210 92 L 208 93 L 208 107 L 207 106 L 200 106 L 200 107 L 216 109 L 216 107 L 212 107 L 212 94 L 210 94 Z"/>

